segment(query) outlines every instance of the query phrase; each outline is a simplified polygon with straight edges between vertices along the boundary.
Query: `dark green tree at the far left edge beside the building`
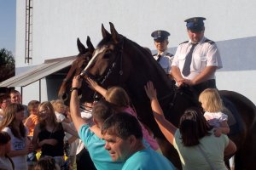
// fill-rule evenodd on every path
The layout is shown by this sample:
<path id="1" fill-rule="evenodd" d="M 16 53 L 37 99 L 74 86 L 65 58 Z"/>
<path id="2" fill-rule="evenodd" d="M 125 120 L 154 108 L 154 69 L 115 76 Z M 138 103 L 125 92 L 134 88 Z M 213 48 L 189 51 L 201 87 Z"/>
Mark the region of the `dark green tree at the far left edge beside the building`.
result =
<path id="1" fill-rule="evenodd" d="M 15 58 L 5 48 L 0 49 L 0 82 L 15 76 Z"/>

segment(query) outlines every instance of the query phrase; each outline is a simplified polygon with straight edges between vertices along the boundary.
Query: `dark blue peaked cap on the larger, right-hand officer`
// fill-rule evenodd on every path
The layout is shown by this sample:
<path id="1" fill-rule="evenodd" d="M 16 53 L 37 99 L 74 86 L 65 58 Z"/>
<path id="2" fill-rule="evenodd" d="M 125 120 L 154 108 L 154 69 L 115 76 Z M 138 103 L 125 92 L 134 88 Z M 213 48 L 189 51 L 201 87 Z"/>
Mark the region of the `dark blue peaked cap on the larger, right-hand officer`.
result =
<path id="1" fill-rule="evenodd" d="M 204 20 L 207 19 L 203 17 L 193 17 L 185 20 L 185 22 L 187 22 L 186 26 L 190 31 L 199 32 L 203 31 L 205 28 Z"/>

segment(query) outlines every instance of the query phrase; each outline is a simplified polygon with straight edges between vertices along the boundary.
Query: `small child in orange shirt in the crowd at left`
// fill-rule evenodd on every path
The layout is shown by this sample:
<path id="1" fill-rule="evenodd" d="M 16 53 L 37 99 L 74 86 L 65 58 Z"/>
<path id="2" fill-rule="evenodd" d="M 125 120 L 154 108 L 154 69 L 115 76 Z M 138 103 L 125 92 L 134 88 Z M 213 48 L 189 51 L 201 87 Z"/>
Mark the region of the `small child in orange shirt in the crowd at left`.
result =
<path id="1" fill-rule="evenodd" d="M 28 110 L 30 116 L 28 116 L 26 118 L 24 125 L 28 128 L 29 133 L 27 136 L 31 140 L 32 140 L 33 133 L 34 133 L 34 128 L 38 124 L 38 105 L 39 104 L 40 104 L 40 102 L 38 100 L 31 100 L 27 105 L 27 110 Z M 28 154 L 28 156 L 27 156 L 28 169 L 32 169 L 33 166 L 35 165 L 35 163 L 37 161 L 36 154 L 37 154 L 37 151 L 32 151 L 31 153 Z"/>

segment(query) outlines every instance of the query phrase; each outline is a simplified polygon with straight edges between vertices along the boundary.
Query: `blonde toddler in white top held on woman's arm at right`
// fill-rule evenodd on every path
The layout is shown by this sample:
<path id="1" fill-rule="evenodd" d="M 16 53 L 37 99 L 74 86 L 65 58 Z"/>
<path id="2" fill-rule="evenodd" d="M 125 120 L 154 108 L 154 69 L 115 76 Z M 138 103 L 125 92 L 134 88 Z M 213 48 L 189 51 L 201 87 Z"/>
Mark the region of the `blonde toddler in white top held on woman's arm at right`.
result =
<path id="1" fill-rule="evenodd" d="M 199 96 L 201 107 L 205 111 L 204 116 L 207 122 L 214 127 L 215 136 L 219 137 L 222 133 L 230 133 L 230 127 L 228 125 L 228 116 L 225 115 L 222 105 L 222 100 L 218 94 L 216 88 L 207 88 Z M 230 168 L 235 167 L 234 156 L 230 158 Z"/>

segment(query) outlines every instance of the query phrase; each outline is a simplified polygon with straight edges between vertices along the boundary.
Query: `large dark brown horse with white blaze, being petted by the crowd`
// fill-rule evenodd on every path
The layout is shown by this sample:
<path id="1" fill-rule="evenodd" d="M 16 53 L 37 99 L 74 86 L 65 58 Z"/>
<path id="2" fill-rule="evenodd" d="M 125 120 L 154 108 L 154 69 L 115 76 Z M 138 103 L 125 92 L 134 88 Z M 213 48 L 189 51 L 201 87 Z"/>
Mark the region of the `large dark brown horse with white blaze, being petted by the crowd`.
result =
<path id="1" fill-rule="evenodd" d="M 120 35 L 112 23 L 110 23 L 110 30 L 111 33 L 102 26 L 102 41 L 99 42 L 82 75 L 93 78 L 104 88 L 115 85 L 125 88 L 137 110 L 138 118 L 150 127 L 160 143 L 163 154 L 177 167 L 181 167 L 177 151 L 166 141 L 154 122 L 143 86 L 149 80 L 154 83 L 166 118 L 176 126 L 187 108 L 199 106 L 199 104 L 183 89 L 178 89 L 174 81 L 166 77 L 165 72 L 146 49 Z M 230 135 L 237 146 L 236 169 L 254 169 L 256 167 L 256 107 L 241 94 L 231 91 L 220 91 L 220 94 L 236 106 L 242 125 L 239 133 Z"/>

